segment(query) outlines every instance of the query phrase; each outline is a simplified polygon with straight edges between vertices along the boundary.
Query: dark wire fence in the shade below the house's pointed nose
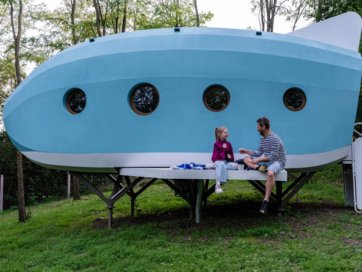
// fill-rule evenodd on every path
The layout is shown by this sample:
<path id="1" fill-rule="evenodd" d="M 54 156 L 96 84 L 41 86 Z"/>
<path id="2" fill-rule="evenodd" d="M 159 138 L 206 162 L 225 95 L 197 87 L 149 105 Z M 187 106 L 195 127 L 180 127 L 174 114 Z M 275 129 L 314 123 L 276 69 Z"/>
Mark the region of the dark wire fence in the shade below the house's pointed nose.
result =
<path id="1" fill-rule="evenodd" d="M 104 175 L 87 174 L 84 177 L 94 186 L 103 190 L 113 183 Z M 24 198 L 25 205 L 33 205 L 49 200 L 67 197 L 68 172 L 43 168 L 39 171 L 24 173 Z M 80 193 L 90 191 L 83 182 L 79 182 Z M 71 175 L 70 195 L 73 195 L 73 176 Z M 18 177 L 4 176 L 3 185 L 3 210 L 18 206 Z"/>

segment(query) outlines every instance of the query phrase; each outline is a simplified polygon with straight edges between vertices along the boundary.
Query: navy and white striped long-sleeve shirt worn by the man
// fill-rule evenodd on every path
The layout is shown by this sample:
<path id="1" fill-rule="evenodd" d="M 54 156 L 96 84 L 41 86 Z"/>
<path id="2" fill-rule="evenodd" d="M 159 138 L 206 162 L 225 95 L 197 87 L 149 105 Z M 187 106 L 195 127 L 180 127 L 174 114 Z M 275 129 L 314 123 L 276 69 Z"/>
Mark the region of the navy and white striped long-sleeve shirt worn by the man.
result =
<path id="1" fill-rule="evenodd" d="M 270 132 L 265 139 L 264 136 L 261 137 L 258 150 L 253 151 L 253 157 L 261 157 L 263 153 L 269 161 L 279 161 L 284 165 L 287 162 L 284 144 L 274 132 Z"/>

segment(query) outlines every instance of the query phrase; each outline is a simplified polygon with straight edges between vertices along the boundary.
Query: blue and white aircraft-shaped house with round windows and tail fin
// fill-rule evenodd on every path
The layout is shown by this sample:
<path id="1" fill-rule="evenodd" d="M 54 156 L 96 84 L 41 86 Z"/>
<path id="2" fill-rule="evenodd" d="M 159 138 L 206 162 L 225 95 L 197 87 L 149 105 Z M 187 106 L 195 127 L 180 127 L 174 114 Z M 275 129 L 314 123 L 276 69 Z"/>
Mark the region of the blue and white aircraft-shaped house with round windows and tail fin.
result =
<path id="1" fill-rule="evenodd" d="M 287 171 L 323 169 L 349 153 L 360 35 L 349 12 L 288 34 L 165 28 L 90 39 L 24 79 L 5 103 L 5 129 L 40 165 L 113 173 L 211 162 L 219 126 L 234 151 L 255 150 L 256 120 L 268 116 Z"/>

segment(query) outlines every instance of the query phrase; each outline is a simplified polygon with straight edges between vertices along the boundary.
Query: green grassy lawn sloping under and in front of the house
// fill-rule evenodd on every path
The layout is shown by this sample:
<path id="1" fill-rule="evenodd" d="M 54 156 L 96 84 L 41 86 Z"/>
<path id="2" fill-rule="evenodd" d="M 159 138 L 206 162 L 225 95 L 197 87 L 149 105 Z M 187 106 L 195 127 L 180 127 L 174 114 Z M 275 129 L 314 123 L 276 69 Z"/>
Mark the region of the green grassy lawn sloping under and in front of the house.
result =
<path id="1" fill-rule="evenodd" d="M 259 213 L 263 197 L 246 181 L 223 190 L 200 224 L 187 224 L 187 203 L 161 181 L 134 218 L 128 196 L 115 203 L 112 230 L 94 194 L 33 206 L 23 224 L 4 211 L 0 271 L 362 271 L 362 215 L 344 206 L 340 165 L 318 172 L 282 217 Z"/>

